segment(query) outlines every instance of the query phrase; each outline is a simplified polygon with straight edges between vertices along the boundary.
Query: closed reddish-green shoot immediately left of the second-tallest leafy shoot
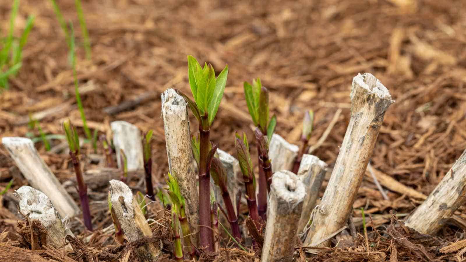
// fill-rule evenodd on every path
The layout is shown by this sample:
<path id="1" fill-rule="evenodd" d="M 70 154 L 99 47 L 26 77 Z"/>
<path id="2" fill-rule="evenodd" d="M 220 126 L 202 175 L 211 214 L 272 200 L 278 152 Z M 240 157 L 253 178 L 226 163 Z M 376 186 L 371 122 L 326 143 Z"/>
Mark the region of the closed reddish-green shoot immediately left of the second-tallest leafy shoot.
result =
<path id="1" fill-rule="evenodd" d="M 238 161 L 240 162 L 241 172 L 243 173 L 243 181 L 246 186 L 246 200 L 249 208 L 249 216 L 260 228 L 260 217 L 256 203 L 256 179 L 253 172 L 253 162 L 249 153 L 249 145 L 247 143 L 246 134 L 243 133 L 243 138 L 236 133 L 235 148 L 238 153 Z"/>

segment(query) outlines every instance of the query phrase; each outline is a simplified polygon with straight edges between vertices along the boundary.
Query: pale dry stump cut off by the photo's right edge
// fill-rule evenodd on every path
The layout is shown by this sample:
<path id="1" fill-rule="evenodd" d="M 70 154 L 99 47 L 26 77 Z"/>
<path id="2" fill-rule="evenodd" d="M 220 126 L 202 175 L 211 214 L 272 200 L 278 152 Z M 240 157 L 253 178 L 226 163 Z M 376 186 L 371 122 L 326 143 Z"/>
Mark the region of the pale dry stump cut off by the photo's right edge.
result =
<path id="1" fill-rule="evenodd" d="M 434 234 L 444 227 L 466 200 L 466 150 L 427 199 L 404 222 L 423 234 Z"/>

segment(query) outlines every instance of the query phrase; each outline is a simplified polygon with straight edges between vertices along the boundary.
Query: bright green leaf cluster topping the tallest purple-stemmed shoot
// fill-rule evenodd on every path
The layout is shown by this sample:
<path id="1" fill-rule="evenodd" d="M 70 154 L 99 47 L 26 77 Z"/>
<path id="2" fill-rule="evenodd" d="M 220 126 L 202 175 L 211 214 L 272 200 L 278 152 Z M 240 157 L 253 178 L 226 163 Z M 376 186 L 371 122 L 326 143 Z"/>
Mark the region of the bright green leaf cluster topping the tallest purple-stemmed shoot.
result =
<path id="1" fill-rule="evenodd" d="M 200 117 L 207 114 L 208 124 L 212 125 L 225 91 L 227 76 L 228 65 L 220 72 L 219 76 L 215 77 L 215 70 L 211 64 L 205 63 L 202 68 L 196 58 L 188 55 L 189 85 L 196 106 L 193 106 L 192 101 L 186 100 L 185 96 L 183 98 L 188 102 L 199 122 L 201 121 Z"/>

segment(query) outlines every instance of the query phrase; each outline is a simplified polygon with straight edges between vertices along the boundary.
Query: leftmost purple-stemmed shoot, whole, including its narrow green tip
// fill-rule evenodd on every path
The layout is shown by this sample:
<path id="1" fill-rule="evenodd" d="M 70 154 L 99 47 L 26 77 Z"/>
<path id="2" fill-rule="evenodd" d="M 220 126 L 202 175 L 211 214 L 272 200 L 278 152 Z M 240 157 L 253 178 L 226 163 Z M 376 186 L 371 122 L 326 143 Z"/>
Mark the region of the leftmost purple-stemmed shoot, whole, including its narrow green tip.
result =
<path id="1" fill-rule="evenodd" d="M 89 199 L 87 195 L 87 186 L 82 178 L 81 166 L 79 164 L 79 137 L 78 132 L 75 130 L 69 120 L 63 122 L 63 129 L 65 130 L 66 140 L 69 146 L 69 156 L 75 168 L 76 181 L 78 183 L 79 199 L 81 200 L 82 217 L 84 225 L 92 231 L 92 222 L 89 211 Z"/>

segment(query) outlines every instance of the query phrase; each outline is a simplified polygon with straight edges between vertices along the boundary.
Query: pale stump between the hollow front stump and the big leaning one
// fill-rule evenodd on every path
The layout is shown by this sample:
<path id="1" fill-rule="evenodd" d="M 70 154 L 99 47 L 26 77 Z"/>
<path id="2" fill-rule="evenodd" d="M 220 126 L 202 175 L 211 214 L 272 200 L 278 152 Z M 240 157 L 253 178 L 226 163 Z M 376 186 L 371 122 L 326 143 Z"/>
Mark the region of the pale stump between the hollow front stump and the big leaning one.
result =
<path id="1" fill-rule="evenodd" d="M 301 218 L 298 223 L 298 234 L 302 234 L 311 219 L 311 213 L 315 207 L 315 202 L 319 198 L 319 191 L 326 172 L 327 164 L 325 164 L 324 161 L 313 155 L 304 154 L 302 156 L 298 177 L 304 184 L 306 197 L 302 204 Z M 304 235 L 303 239 L 305 239 L 305 237 Z"/>

